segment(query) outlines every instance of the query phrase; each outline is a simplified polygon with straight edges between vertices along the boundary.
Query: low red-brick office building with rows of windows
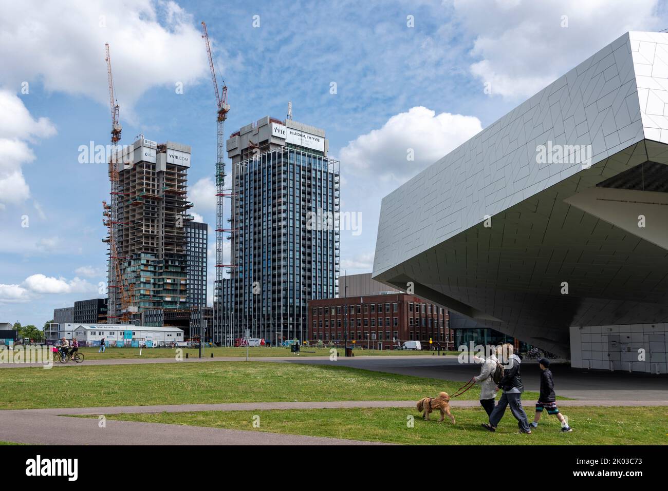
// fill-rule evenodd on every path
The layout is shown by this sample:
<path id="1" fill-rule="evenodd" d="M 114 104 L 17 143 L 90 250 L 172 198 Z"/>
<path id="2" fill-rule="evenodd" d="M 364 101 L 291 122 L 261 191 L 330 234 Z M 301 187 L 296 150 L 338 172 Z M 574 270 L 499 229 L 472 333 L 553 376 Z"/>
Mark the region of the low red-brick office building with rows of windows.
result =
<path id="1" fill-rule="evenodd" d="M 349 327 L 348 327 L 349 326 Z M 345 341 L 367 348 L 390 349 L 420 341 L 429 349 L 454 349 L 448 311 L 407 294 L 373 294 L 309 300 L 310 342 L 343 346 Z"/>

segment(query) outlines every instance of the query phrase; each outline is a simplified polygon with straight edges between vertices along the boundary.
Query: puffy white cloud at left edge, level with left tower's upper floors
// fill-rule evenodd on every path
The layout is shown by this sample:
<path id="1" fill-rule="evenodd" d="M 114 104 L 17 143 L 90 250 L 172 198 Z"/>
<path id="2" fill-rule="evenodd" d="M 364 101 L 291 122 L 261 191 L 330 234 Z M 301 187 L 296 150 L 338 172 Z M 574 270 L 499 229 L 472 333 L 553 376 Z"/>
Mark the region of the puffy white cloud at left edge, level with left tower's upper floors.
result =
<path id="1" fill-rule="evenodd" d="M 30 196 L 21 167 L 35 160 L 35 154 L 26 141 L 55 135 L 55 127 L 45 117 L 33 119 L 17 95 L 0 89 L 0 135 L 0 205 L 4 209 Z"/>

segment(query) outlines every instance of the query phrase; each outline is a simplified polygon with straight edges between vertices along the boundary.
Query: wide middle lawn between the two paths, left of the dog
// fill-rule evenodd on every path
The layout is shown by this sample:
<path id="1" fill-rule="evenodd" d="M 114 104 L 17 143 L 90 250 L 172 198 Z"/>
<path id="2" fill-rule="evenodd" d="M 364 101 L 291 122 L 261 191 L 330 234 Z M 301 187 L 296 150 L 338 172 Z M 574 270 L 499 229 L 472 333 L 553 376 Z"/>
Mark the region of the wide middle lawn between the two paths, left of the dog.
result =
<path id="1" fill-rule="evenodd" d="M 248 401 L 418 400 L 463 382 L 271 362 L 3 368 L 0 409 L 147 406 Z M 462 399 L 476 400 L 479 386 Z M 535 400 L 536 392 L 526 392 Z"/>

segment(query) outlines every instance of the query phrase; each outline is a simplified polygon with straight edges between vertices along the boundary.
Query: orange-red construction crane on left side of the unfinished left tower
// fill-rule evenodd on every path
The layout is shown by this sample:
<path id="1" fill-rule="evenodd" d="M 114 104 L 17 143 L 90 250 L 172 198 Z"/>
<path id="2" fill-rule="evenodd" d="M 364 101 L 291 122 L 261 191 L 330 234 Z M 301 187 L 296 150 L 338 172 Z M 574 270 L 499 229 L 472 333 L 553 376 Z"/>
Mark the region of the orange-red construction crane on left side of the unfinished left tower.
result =
<path id="1" fill-rule="evenodd" d="M 116 143 L 121 139 L 122 126 L 118 121 L 118 100 L 114 94 L 114 77 L 112 76 L 112 59 L 109 55 L 109 43 L 105 45 L 106 57 L 105 61 L 107 62 L 107 76 L 109 82 L 109 101 L 110 107 L 112 109 L 112 153 L 109 159 L 109 180 L 111 183 L 110 191 L 110 203 L 102 201 L 102 215 L 104 216 L 103 223 L 108 227 L 108 237 L 103 239 L 103 241 L 109 243 L 109 264 L 108 264 L 108 305 L 107 305 L 107 318 L 112 322 L 118 322 L 120 324 L 127 324 L 130 321 L 130 316 L 132 308 L 130 304 L 134 298 L 134 284 L 129 287 L 126 286 L 126 280 L 123 278 L 118 264 L 118 249 L 116 247 L 116 225 L 120 223 L 118 221 L 118 201 L 120 192 L 118 191 L 118 168 L 116 166 L 116 161 L 114 157 L 116 155 Z M 116 302 L 120 297 L 121 301 L 121 312 L 120 315 L 116 312 Z M 109 322 L 109 321 L 108 321 Z"/>

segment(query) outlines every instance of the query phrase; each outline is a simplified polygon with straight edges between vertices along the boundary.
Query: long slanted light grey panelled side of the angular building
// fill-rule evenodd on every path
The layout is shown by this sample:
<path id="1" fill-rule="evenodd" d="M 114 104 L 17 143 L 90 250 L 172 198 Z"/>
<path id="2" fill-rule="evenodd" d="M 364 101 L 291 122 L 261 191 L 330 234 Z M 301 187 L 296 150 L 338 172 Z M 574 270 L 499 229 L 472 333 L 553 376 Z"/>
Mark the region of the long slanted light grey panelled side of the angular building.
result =
<path id="1" fill-rule="evenodd" d="M 387 195 L 373 276 L 582 170 L 578 161 L 537 163 L 539 145 L 591 145 L 594 165 L 641 141 L 648 130 L 643 131 L 647 121 L 636 88 L 641 76 L 634 70 L 643 35 L 668 45 L 666 33 L 619 37 Z M 636 51 L 631 40 L 637 41 Z M 649 52 L 645 45 L 642 49 Z M 665 58 L 655 54 L 653 63 L 657 59 Z M 656 63 L 657 74 L 666 75 Z M 668 87 L 657 76 L 649 79 Z M 656 87 L 653 94 L 665 97 Z M 653 124 L 668 129 L 661 118 Z"/>

